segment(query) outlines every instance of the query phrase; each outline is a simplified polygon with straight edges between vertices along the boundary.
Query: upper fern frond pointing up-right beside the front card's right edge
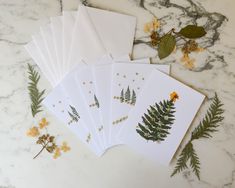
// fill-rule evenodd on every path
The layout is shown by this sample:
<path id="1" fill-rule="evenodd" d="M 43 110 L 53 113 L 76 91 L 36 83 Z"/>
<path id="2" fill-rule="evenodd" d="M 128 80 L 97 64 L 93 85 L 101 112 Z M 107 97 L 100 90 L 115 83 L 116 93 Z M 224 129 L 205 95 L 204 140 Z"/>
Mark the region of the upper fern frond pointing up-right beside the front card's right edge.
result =
<path id="1" fill-rule="evenodd" d="M 191 140 L 199 138 L 210 138 L 211 133 L 218 131 L 217 127 L 219 123 L 224 119 L 222 116 L 224 110 L 223 104 L 218 99 L 217 94 L 213 98 L 213 102 L 210 105 L 205 117 L 200 122 L 199 126 L 192 132 Z"/>

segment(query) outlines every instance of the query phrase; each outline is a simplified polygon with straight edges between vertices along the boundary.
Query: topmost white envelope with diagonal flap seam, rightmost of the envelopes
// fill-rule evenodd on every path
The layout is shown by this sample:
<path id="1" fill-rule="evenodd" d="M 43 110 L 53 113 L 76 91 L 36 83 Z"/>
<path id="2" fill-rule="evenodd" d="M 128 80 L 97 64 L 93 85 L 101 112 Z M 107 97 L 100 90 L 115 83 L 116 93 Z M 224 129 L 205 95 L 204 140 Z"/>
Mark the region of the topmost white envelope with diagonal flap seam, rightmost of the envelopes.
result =
<path id="1" fill-rule="evenodd" d="M 79 6 L 68 65 L 92 62 L 110 53 L 119 58 L 132 52 L 136 18 Z"/>

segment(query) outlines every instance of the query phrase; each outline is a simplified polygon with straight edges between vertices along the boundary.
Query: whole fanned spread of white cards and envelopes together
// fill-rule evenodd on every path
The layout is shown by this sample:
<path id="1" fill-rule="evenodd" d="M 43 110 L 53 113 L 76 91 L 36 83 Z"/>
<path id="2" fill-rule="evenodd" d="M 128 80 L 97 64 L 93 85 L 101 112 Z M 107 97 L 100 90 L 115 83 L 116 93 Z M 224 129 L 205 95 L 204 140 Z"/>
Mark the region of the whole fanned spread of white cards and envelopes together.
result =
<path id="1" fill-rule="evenodd" d="M 169 164 L 204 96 L 169 65 L 130 60 L 136 18 L 79 6 L 25 47 L 52 85 L 43 104 L 97 156 L 125 144 Z"/>

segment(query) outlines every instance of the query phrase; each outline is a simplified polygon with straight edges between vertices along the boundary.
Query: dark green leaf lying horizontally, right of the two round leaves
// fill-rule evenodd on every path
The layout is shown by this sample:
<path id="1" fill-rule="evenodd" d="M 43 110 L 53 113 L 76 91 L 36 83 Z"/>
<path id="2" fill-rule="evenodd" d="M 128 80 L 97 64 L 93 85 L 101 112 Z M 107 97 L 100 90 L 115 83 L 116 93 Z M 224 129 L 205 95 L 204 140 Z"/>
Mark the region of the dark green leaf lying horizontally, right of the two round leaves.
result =
<path id="1" fill-rule="evenodd" d="M 179 34 L 186 38 L 196 39 L 203 37 L 206 34 L 206 31 L 201 26 L 187 25 L 186 27 L 180 30 Z"/>

